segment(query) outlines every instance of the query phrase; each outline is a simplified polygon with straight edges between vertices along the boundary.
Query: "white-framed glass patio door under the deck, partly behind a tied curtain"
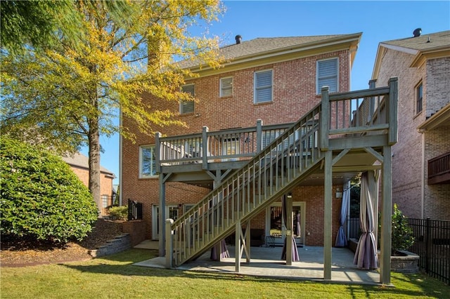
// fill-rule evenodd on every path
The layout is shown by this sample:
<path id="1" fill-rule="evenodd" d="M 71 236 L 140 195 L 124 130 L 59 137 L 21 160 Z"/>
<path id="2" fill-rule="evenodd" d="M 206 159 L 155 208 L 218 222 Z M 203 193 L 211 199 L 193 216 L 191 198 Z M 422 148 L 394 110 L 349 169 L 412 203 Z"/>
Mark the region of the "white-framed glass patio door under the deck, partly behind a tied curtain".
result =
<path id="1" fill-rule="evenodd" d="M 304 201 L 293 202 L 293 236 L 297 245 L 304 245 L 305 212 L 306 203 Z M 274 242 L 274 245 L 283 246 L 286 230 L 281 202 L 274 203 L 266 210 L 266 236 L 272 237 L 271 241 Z"/>

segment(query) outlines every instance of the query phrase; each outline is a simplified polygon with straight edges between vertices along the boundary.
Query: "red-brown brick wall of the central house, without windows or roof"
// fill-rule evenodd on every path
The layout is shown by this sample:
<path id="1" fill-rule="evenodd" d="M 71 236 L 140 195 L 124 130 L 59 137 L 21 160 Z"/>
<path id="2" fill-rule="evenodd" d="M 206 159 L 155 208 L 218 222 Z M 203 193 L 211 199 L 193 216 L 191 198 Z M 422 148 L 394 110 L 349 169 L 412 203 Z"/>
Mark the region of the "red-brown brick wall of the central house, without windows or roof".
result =
<path id="1" fill-rule="evenodd" d="M 297 121 L 320 102 L 316 95 L 316 61 L 339 58 L 339 91 L 349 91 L 349 51 L 336 51 L 322 55 L 277 62 L 259 67 L 223 72 L 208 77 L 199 77 L 186 83 L 195 84 L 195 111 L 179 115 L 175 119 L 186 122 L 186 127 L 153 126 L 154 131 L 165 135 L 200 133 L 203 126 L 210 131 L 225 128 L 255 126 L 257 119 L 263 124 L 281 124 Z M 255 105 L 253 103 L 254 72 L 273 70 L 273 101 Z M 223 70 L 222 70 L 223 71 Z M 233 95 L 219 97 L 219 81 L 233 77 Z M 178 102 L 157 100 L 148 93 L 143 99 L 150 102 L 152 109 L 179 111 Z M 152 236 L 152 206 L 158 205 L 158 178 L 139 179 L 139 146 L 154 144 L 154 136 L 140 134 L 133 121 L 124 119 L 124 126 L 136 133 L 135 142 L 124 140 L 122 147 L 122 200 L 132 199 L 143 203 L 143 220 L 146 222 L 146 238 Z M 342 188 L 342 187 L 341 187 Z M 194 204 L 210 190 L 183 183 L 166 184 L 167 204 Z M 323 187 L 297 187 L 295 201 L 307 201 L 307 225 L 310 232 L 307 244 L 323 245 Z M 338 207 L 335 207 L 338 206 Z M 338 231 L 340 200 L 333 200 L 333 234 Z M 252 228 L 264 228 L 265 213 L 252 220 Z M 334 225 L 335 223 L 335 225 Z"/>

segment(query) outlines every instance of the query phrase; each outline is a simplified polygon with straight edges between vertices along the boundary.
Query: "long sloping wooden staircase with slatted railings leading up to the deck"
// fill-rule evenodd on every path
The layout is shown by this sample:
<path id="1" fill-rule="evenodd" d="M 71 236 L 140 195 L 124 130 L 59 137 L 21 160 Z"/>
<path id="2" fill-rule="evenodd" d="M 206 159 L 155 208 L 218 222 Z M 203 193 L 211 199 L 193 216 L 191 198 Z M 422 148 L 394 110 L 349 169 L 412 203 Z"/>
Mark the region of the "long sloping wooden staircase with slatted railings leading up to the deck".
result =
<path id="1" fill-rule="evenodd" d="M 198 257 L 319 168 L 321 105 L 235 171 L 171 226 L 172 263 Z"/>

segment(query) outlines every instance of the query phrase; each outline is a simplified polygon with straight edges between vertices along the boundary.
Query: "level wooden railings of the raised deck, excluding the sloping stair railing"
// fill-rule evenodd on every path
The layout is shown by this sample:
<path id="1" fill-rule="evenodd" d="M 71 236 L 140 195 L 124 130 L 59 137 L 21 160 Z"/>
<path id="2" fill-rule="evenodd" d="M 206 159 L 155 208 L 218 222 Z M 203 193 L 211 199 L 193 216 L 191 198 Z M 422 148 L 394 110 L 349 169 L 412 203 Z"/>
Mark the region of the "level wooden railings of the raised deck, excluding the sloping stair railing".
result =
<path id="1" fill-rule="evenodd" d="M 390 143 L 397 142 L 397 122 L 394 121 L 397 119 L 397 102 L 392 102 L 395 88 L 397 79 L 391 79 L 387 87 L 328 95 L 323 101 L 328 104 L 328 119 L 326 124 L 322 122 L 323 126 L 328 125 L 323 134 L 324 141 L 343 135 L 374 135 L 389 130 Z M 160 173 L 161 166 L 194 163 L 204 164 L 203 168 L 207 169 L 208 163 L 249 160 L 292 125 L 263 126 L 262 121 L 258 120 L 256 126 L 248 128 L 210 132 L 204 126 L 202 133 L 167 137 L 157 133 L 157 172 Z M 326 148 L 326 144 L 322 147 Z"/>

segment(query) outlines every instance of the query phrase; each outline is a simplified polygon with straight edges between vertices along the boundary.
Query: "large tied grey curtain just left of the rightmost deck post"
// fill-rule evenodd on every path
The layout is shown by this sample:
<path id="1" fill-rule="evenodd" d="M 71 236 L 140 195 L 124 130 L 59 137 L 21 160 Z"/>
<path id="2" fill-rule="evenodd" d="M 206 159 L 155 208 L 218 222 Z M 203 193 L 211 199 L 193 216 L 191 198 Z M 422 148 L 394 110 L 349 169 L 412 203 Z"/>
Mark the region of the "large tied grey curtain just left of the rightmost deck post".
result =
<path id="1" fill-rule="evenodd" d="M 361 202 L 359 208 L 359 224 L 361 225 L 361 237 L 354 255 L 353 263 L 360 269 L 378 268 L 378 257 L 374 230 L 373 200 L 368 192 L 368 175 L 361 175 Z"/>

